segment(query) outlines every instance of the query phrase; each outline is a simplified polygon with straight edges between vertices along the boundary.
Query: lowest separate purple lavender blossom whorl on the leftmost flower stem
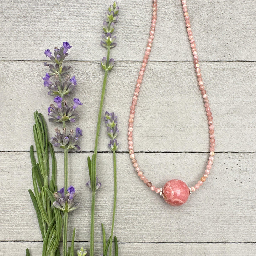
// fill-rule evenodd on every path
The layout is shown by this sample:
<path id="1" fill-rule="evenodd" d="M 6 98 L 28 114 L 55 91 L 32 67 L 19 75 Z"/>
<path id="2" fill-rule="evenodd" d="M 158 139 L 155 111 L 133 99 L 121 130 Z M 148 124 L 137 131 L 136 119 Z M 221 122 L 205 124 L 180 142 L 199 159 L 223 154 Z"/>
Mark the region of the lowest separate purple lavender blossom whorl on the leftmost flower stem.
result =
<path id="1" fill-rule="evenodd" d="M 65 195 L 65 190 L 63 187 L 60 191 L 54 193 L 54 198 L 56 201 L 53 202 L 53 206 L 62 211 L 72 212 L 73 210 L 79 208 L 81 204 L 76 203 L 75 201 L 75 188 L 73 186 L 70 186 L 67 191 L 68 193 Z"/>

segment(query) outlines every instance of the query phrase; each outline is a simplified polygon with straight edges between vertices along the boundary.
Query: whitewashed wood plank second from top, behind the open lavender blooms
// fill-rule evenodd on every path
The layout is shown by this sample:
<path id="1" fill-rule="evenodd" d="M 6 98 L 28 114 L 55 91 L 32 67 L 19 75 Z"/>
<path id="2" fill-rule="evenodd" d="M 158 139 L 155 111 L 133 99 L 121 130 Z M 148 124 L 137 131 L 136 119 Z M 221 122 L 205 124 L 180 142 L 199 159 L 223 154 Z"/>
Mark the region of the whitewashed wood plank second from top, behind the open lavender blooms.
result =
<path id="1" fill-rule="evenodd" d="M 72 97 L 84 105 L 74 127 L 84 130 L 82 151 L 94 149 L 94 137 L 103 72 L 98 62 L 67 62 L 78 85 Z M 129 107 L 140 63 L 117 62 L 108 79 L 105 111 L 118 115 L 120 150 L 127 151 Z M 1 62 L 2 116 L 1 151 L 28 151 L 33 144 L 33 112 L 47 117 L 53 103 L 42 76 L 48 68 L 42 62 Z M 256 151 L 255 83 L 256 64 L 249 62 L 203 62 L 202 74 L 210 98 L 215 128 L 216 151 Z M 28 76 L 27 74 L 31 74 Z M 116 76 L 119 74 L 119 78 Z M 72 101 L 72 98 L 71 98 Z M 55 124 L 48 123 L 49 137 Z M 11 124 L 11 128 L 10 128 Z M 99 150 L 106 151 L 108 138 L 102 119 Z M 10 129 L 15 136 L 6 139 Z M 22 136 L 21 136 L 22 135 Z M 17 139 L 18 136 L 18 139 Z M 142 83 L 134 122 L 136 151 L 206 152 L 208 125 L 203 100 L 191 62 L 151 62 Z"/>

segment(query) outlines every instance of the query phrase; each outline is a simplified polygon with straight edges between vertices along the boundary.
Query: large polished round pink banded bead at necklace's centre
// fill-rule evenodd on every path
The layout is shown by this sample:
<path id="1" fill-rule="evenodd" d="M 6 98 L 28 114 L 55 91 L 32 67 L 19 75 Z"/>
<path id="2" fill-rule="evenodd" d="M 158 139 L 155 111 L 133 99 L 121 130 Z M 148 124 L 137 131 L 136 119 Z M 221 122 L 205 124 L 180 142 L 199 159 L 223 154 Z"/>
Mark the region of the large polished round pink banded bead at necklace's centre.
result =
<path id="1" fill-rule="evenodd" d="M 165 183 L 163 188 L 163 197 L 172 206 L 186 203 L 189 193 L 187 184 L 181 180 L 170 180 Z"/>

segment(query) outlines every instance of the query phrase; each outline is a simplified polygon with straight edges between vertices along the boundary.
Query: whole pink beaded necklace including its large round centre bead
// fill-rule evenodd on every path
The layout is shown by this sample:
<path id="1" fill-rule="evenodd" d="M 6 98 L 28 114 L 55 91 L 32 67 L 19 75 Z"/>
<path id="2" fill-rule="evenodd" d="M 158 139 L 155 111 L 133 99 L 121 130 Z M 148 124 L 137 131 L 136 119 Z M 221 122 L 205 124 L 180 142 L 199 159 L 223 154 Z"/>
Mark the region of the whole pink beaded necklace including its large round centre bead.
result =
<path id="1" fill-rule="evenodd" d="M 208 177 L 210 173 L 210 169 L 212 168 L 213 164 L 213 159 L 214 159 L 214 150 L 215 150 L 215 135 L 214 135 L 214 126 L 213 126 L 213 118 L 212 118 L 212 113 L 210 112 L 210 107 L 209 107 L 209 99 L 206 94 L 206 90 L 204 88 L 204 83 L 202 79 L 202 75 L 200 72 L 200 65 L 198 63 L 198 54 L 196 50 L 196 44 L 193 38 L 193 34 L 191 31 L 191 26 L 190 26 L 190 18 L 188 16 L 188 9 L 186 5 L 186 0 L 182 0 L 182 7 L 183 7 L 183 13 L 185 17 L 185 23 L 186 23 L 186 28 L 187 28 L 187 33 L 188 33 L 188 40 L 190 41 L 191 49 L 192 49 L 192 54 L 193 54 L 193 63 L 196 71 L 196 76 L 197 76 L 197 81 L 199 85 L 199 90 L 201 91 L 201 95 L 203 97 L 204 101 L 204 107 L 206 109 L 206 115 L 207 115 L 207 120 L 208 120 L 208 125 L 209 125 L 209 134 L 210 134 L 210 153 L 209 153 L 209 158 L 208 162 L 206 165 L 206 170 L 204 171 L 204 175 L 201 177 L 201 179 L 194 185 L 193 187 L 188 187 L 185 182 L 181 180 L 170 180 L 167 183 L 165 183 L 163 188 L 158 188 L 156 186 L 153 186 L 151 182 L 144 176 L 143 172 L 140 170 L 140 167 L 137 163 L 137 160 L 135 159 L 135 154 L 133 150 L 133 122 L 134 122 L 134 117 L 135 117 L 135 106 L 137 105 L 137 99 L 139 96 L 139 91 L 140 91 L 140 86 L 142 84 L 142 79 L 143 75 L 145 72 L 145 68 L 148 62 L 149 54 L 151 51 L 153 39 L 154 39 L 154 34 L 155 34 L 155 25 L 156 25 L 156 14 L 157 14 L 157 0 L 153 0 L 153 12 L 152 12 L 152 23 L 151 23 L 151 28 L 150 28 L 150 36 L 148 39 L 148 44 L 146 47 L 146 52 L 143 58 L 142 66 L 139 71 L 139 77 L 137 80 L 136 88 L 133 94 L 133 100 L 132 100 L 132 105 L 130 106 L 130 118 L 129 118 L 129 128 L 128 128 L 128 145 L 129 145 L 129 154 L 130 158 L 132 159 L 133 166 L 135 170 L 138 173 L 138 176 L 140 179 L 148 186 L 151 188 L 152 191 L 155 191 L 156 193 L 159 193 L 160 195 L 163 196 L 164 200 L 171 204 L 172 206 L 179 206 L 183 203 L 185 203 L 188 199 L 188 196 L 196 191 L 204 181 L 206 181 L 206 178 Z"/>

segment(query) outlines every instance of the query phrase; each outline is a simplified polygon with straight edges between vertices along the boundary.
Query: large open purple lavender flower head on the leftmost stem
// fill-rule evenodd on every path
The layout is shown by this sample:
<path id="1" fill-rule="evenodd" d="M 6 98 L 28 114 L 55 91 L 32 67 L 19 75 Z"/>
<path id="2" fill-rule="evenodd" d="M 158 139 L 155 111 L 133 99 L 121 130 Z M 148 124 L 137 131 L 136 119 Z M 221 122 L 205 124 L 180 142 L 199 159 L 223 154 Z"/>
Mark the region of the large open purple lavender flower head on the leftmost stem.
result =
<path id="1" fill-rule="evenodd" d="M 77 84 L 75 76 L 70 78 L 68 75 L 70 66 L 63 66 L 63 61 L 68 56 L 68 50 L 71 47 L 68 42 L 63 42 L 63 46 L 60 49 L 58 47 L 54 48 L 54 55 L 52 55 L 49 49 L 44 51 L 44 54 L 55 63 L 55 65 L 44 63 L 50 69 L 50 72 L 46 73 L 43 77 L 44 86 L 49 89 L 48 95 L 55 96 L 53 101 L 57 105 L 50 104 L 48 107 L 49 121 L 63 123 L 63 127 L 65 127 L 65 122 L 67 121 L 71 123 L 76 122 L 76 118 L 78 117 L 76 108 L 83 105 L 78 98 L 74 98 L 73 103 L 70 105 L 64 100 L 64 96 L 70 96 L 70 92 L 75 89 Z M 77 145 L 79 136 L 82 136 L 80 128 L 76 128 L 75 135 L 73 130 L 70 130 L 70 134 L 66 135 L 65 128 L 63 129 L 63 133 L 58 128 L 55 128 L 55 132 L 55 137 L 52 137 L 52 144 L 54 146 L 64 149 L 80 150 L 80 147 Z"/>

